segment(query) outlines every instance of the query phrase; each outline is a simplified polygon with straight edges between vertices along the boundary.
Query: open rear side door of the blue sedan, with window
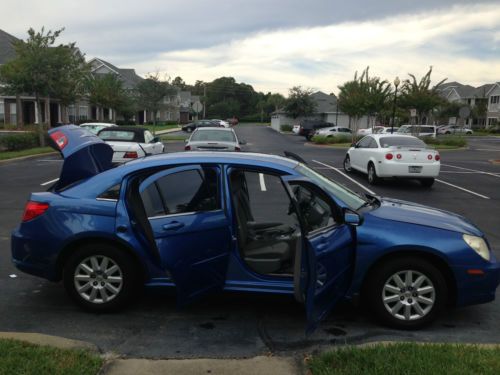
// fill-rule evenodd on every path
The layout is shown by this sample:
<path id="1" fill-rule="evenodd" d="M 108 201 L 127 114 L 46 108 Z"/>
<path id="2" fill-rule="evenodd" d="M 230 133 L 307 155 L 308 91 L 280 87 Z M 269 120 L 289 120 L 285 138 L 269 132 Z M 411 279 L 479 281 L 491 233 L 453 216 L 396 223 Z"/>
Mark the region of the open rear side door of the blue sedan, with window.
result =
<path id="1" fill-rule="evenodd" d="M 225 283 L 231 236 L 218 166 L 190 165 L 153 174 L 139 186 L 160 267 L 183 305 Z"/>

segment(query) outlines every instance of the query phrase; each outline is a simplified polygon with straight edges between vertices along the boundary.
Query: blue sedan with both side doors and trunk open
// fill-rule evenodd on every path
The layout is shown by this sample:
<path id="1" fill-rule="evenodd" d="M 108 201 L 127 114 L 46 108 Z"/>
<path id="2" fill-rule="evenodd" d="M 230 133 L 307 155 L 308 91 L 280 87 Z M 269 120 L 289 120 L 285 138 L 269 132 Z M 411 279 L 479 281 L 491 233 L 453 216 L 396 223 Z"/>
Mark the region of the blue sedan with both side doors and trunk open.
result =
<path id="1" fill-rule="evenodd" d="M 32 193 L 12 233 L 22 271 L 62 280 L 87 310 L 123 307 L 144 287 L 180 305 L 216 291 L 274 293 L 313 330 L 340 299 L 416 329 L 447 305 L 494 300 L 500 264 L 465 218 L 359 196 L 296 160 L 191 152 L 112 168 L 113 150 L 76 126 L 51 130 L 60 179 Z"/>

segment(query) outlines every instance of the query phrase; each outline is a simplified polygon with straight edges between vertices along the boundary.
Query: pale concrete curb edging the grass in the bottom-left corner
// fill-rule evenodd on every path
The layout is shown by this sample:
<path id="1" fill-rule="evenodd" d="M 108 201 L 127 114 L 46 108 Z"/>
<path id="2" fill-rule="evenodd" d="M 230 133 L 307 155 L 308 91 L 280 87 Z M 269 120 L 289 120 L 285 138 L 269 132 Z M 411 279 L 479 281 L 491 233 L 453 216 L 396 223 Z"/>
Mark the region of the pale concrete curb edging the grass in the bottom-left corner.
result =
<path id="1" fill-rule="evenodd" d="M 12 339 L 29 342 L 41 346 L 52 346 L 58 349 L 83 349 L 99 353 L 99 348 L 89 342 L 66 339 L 64 337 L 29 332 L 0 332 L 0 339 Z"/>

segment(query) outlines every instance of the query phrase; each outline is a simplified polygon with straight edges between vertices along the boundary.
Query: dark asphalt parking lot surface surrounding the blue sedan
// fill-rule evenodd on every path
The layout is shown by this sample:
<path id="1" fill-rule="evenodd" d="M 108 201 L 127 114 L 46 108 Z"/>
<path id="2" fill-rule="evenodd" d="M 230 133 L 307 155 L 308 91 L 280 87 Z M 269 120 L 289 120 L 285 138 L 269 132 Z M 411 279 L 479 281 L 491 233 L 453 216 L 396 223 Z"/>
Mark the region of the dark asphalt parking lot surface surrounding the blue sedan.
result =
<path id="1" fill-rule="evenodd" d="M 469 148 L 442 151 L 441 174 L 431 189 L 414 181 L 384 181 L 370 186 L 362 174 L 346 175 L 345 150 L 305 144 L 303 137 L 282 135 L 258 125 L 238 125 L 245 151 L 291 151 L 341 184 L 359 192 L 415 201 L 462 214 L 487 235 L 500 257 L 500 138 L 474 137 Z M 167 152 L 183 150 L 181 141 Z M 31 191 L 41 191 L 58 177 L 57 155 L 0 164 L 0 331 L 40 332 L 93 342 L 106 351 L 143 357 L 248 357 L 310 350 L 316 345 L 378 339 L 500 342 L 500 301 L 447 311 L 433 326 L 418 332 L 394 331 L 372 322 L 362 308 L 339 306 L 309 337 L 302 308 L 292 299 L 224 294 L 187 308 L 175 307 L 172 295 L 152 291 L 131 308 L 115 314 L 82 312 L 56 285 L 18 272 L 10 262 L 10 231 L 19 222 Z"/>

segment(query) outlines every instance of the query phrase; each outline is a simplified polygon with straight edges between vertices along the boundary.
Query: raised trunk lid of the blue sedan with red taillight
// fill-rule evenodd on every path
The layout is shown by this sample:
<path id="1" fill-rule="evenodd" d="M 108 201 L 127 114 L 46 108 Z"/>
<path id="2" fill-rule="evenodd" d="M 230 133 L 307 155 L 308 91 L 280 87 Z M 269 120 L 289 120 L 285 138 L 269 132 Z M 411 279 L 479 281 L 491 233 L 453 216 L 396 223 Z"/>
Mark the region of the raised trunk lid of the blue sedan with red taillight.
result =
<path id="1" fill-rule="evenodd" d="M 113 150 L 88 130 L 65 125 L 49 130 L 49 136 L 64 159 L 56 189 L 112 168 Z"/>

